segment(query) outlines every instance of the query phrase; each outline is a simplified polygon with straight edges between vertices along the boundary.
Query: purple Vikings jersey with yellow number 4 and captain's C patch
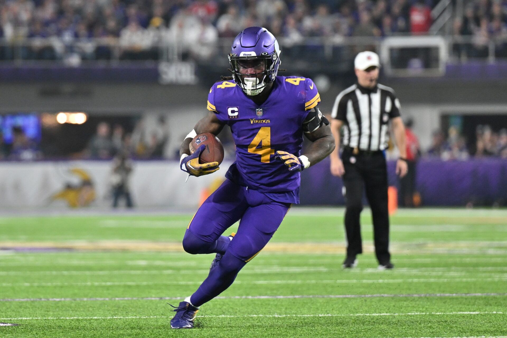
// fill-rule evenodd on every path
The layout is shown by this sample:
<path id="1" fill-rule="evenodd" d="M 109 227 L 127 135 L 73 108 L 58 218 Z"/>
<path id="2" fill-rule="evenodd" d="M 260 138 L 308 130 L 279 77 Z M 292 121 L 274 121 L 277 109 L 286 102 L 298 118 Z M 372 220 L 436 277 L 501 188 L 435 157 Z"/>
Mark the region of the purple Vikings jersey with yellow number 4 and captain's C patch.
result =
<path id="1" fill-rule="evenodd" d="M 277 151 L 300 156 L 302 123 L 320 102 L 307 78 L 276 77 L 267 100 L 257 105 L 234 81 L 211 87 L 207 108 L 229 125 L 236 144 L 236 162 L 226 177 L 258 190 L 275 201 L 299 203 L 300 173 L 290 172 Z"/>

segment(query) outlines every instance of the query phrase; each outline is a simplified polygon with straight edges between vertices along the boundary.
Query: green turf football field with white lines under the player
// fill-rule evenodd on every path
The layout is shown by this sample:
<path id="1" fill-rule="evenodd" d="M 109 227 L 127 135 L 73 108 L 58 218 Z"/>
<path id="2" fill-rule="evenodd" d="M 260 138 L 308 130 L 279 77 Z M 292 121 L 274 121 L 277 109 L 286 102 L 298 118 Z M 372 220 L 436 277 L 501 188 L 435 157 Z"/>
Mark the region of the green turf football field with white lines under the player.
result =
<path id="1" fill-rule="evenodd" d="M 167 303 L 213 259 L 183 251 L 191 217 L 0 218 L 0 337 L 507 337 L 507 210 L 400 210 L 393 271 L 365 210 L 344 271 L 343 209 L 293 208 L 196 328 L 171 330 Z"/>

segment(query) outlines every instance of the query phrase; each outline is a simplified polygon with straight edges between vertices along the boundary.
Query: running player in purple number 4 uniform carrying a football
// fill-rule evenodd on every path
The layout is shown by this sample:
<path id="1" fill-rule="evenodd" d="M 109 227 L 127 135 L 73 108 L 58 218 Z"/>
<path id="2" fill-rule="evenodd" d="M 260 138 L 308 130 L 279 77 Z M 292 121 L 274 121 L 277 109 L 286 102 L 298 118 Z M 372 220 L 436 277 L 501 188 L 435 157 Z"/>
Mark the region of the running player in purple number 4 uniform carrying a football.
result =
<path id="1" fill-rule="evenodd" d="M 230 81 L 209 90 L 209 114 L 195 125 L 180 149 L 183 171 L 194 176 L 219 170 L 218 163 L 199 164 L 204 146 L 190 154 L 200 133 L 218 135 L 231 128 L 236 162 L 226 181 L 197 210 L 183 238 L 191 254 L 216 253 L 208 277 L 173 310 L 172 328 L 192 328 L 201 305 L 227 289 L 278 229 L 293 203 L 299 203 L 300 172 L 335 148 L 329 122 L 317 105 L 312 80 L 277 76 L 280 48 L 273 34 L 248 27 L 232 43 Z M 312 143 L 301 154 L 303 135 Z M 237 234 L 221 236 L 241 219 Z"/>

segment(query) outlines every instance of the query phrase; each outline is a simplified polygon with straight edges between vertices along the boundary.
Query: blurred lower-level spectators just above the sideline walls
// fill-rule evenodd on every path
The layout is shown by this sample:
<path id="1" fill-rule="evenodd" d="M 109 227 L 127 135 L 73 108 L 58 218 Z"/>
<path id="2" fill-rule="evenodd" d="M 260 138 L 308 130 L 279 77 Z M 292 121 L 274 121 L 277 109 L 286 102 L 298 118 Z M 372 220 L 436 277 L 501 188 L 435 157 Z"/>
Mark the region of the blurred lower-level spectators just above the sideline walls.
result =
<path id="1" fill-rule="evenodd" d="M 107 122 L 100 122 L 95 133 L 90 135 L 85 148 L 67 155 L 55 153 L 54 148 L 57 145 L 34 141 L 26 137 L 21 128 L 15 127 L 13 142 L 10 144 L 6 144 L 0 134 L 0 160 L 33 161 L 52 158 L 105 160 L 117 155 L 133 159 L 177 160 L 179 144 L 174 145 L 174 148 L 170 146 L 167 126 L 163 119 L 159 121 L 156 128 L 145 128 L 143 122 L 138 121 L 132 131 L 127 131 L 119 124 L 111 126 Z M 221 134 L 220 139 L 226 149 L 226 157 L 233 160 L 234 143 L 230 135 Z M 47 149 L 53 151 L 49 152 Z M 450 127 L 447 133 L 437 130 L 432 134 L 431 145 L 421 149 L 420 153 L 423 158 L 439 158 L 444 161 L 488 157 L 507 159 L 507 129 L 495 132 L 489 125 L 479 125 L 475 135 L 466 137 L 454 126 Z"/>

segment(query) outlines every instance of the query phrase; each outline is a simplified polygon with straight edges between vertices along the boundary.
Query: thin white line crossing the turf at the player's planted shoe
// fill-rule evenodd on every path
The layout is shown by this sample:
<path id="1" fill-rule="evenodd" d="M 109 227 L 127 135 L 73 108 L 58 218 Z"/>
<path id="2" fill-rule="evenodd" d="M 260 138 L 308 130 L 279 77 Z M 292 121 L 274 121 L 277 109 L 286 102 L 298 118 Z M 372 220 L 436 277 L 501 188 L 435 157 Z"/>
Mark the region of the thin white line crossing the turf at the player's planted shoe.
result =
<path id="1" fill-rule="evenodd" d="M 256 317 L 377 317 L 377 316 L 442 316 L 442 315 L 503 315 L 503 312 L 409 312 L 409 313 L 350 313 L 350 314 L 306 314 L 306 315 L 202 315 L 204 318 L 256 318 Z M 18 317 L 0 320 L 50 320 L 50 319 L 150 319 L 172 318 L 172 316 L 110 316 L 110 317 Z"/>

